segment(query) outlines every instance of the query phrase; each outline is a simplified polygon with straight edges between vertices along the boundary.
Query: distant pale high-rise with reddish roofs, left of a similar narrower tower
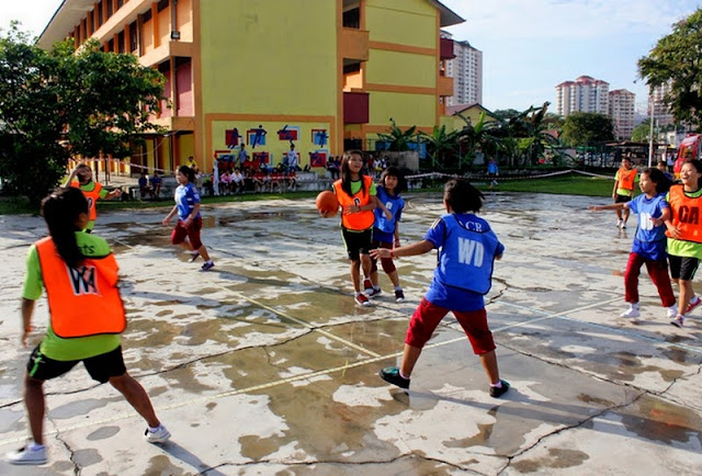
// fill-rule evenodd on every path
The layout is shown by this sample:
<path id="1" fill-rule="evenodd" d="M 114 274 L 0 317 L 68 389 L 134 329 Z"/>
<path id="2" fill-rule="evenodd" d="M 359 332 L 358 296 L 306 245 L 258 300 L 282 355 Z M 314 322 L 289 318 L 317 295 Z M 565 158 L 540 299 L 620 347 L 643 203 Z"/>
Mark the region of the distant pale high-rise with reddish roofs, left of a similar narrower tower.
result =
<path id="1" fill-rule="evenodd" d="M 601 79 L 580 76 L 556 86 L 556 113 L 564 117 L 574 112 L 609 114 L 610 84 Z"/>

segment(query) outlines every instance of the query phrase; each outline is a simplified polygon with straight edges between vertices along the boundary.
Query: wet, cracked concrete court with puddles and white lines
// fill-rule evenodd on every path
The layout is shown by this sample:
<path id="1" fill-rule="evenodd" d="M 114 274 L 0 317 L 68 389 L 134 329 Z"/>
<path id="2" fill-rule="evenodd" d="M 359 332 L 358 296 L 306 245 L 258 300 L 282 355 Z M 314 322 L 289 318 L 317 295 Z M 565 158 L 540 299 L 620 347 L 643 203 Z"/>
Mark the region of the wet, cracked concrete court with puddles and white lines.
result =
<path id="1" fill-rule="evenodd" d="M 596 203 L 607 200 L 488 196 L 483 215 L 507 247 L 487 306 L 512 384 L 500 399 L 452 317 L 409 394 L 376 375 L 398 362 L 435 253 L 398 261 L 406 303 L 383 275 L 385 294 L 361 308 L 338 222 L 313 200 L 204 206 L 208 273 L 168 245 L 167 209 L 103 213 L 97 233 L 117 254 L 128 309 L 127 369 L 173 438 L 144 442 L 140 418 L 79 366 L 46 384 L 49 463 L 2 462 L 0 474 L 700 474 L 702 311 L 670 326 L 645 276 L 639 322 L 618 317 L 635 220 L 618 231 L 613 213 L 586 211 Z M 438 193 L 409 195 L 401 236 L 420 239 L 440 214 Z M 4 454 L 29 434 L 19 296 L 45 227 L 0 220 Z M 43 298 L 35 341 L 46 318 Z"/>

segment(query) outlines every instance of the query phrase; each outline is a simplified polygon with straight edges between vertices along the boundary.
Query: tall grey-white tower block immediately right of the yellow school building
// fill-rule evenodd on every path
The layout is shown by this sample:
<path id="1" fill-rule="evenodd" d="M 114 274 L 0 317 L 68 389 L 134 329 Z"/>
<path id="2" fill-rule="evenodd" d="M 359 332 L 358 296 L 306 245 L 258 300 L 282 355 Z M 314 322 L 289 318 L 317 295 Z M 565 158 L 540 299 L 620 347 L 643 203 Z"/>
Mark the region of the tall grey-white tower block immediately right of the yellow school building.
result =
<path id="1" fill-rule="evenodd" d="M 451 34 L 441 32 L 443 38 Z M 453 78 L 453 95 L 446 99 L 448 105 L 474 104 L 483 102 L 483 52 L 468 42 L 453 42 L 455 58 L 446 61 L 446 76 Z"/>

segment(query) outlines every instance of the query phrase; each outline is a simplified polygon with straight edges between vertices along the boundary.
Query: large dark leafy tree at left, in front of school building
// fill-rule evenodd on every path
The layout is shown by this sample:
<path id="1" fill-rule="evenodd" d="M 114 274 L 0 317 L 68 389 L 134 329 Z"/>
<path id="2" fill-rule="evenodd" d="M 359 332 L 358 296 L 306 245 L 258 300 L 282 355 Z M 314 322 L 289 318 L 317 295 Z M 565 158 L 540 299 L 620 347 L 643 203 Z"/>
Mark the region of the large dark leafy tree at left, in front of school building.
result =
<path id="1" fill-rule="evenodd" d="M 34 203 L 70 157 L 124 157 L 163 99 L 163 77 L 133 55 L 72 41 L 38 48 L 12 24 L 0 36 L 0 170 L 3 192 Z"/>

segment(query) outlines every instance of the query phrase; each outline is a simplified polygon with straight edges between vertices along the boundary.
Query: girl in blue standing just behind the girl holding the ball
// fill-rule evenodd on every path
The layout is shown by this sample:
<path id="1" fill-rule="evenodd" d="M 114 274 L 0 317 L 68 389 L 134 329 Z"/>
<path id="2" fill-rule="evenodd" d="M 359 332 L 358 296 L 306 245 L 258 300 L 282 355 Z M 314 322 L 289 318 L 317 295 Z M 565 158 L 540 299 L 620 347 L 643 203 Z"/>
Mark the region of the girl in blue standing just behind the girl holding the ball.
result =
<path id="1" fill-rule="evenodd" d="M 399 196 L 405 190 L 405 175 L 397 167 L 388 167 L 381 174 L 381 184 L 377 185 L 377 203 L 375 208 L 375 224 L 373 225 L 373 245 L 371 248 L 399 247 L 399 220 L 403 216 L 405 201 Z M 381 294 L 381 286 L 377 281 L 377 260 L 372 260 L 371 276 L 364 282 L 365 294 L 369 297 Z M 395 286 L 395 301 L 405 301 L 405 292 L 399 284 L 397 268 L 392 258 L 381 258 L 383 271 Z"/>

